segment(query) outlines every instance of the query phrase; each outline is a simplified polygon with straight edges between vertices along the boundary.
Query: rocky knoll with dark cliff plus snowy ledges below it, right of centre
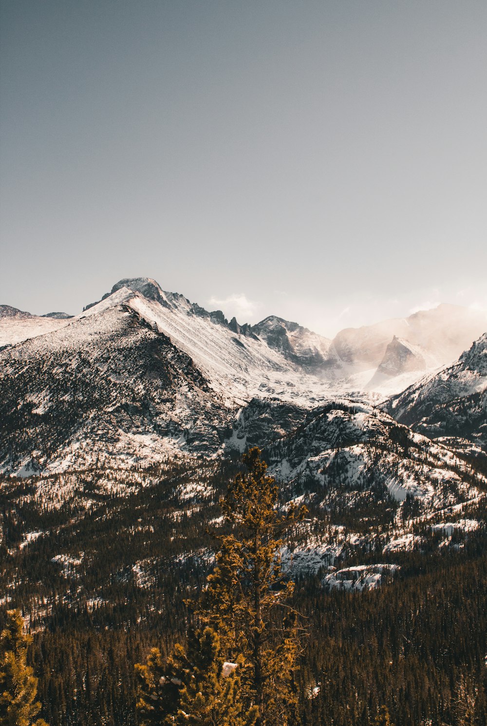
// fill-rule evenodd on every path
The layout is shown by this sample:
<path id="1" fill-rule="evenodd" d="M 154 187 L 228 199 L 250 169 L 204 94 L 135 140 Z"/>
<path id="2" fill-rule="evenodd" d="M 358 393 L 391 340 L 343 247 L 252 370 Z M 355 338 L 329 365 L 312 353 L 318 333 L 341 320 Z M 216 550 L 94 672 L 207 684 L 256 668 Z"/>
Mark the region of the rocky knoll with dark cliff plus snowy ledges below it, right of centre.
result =
<path id="1" fill-rule="evenodd" d="M 308 507 L 299 536 L 282 551 L 295 571 L 369 551 L 379 533 L 380 552 L 420 548 L 428 522 L 457 521 L 485 502 L 487 480 L 478 471 L 359 401 L 309 411 L 254 399 L 238 412 L 225 446 L 255 444 L 288 504 Z"/>

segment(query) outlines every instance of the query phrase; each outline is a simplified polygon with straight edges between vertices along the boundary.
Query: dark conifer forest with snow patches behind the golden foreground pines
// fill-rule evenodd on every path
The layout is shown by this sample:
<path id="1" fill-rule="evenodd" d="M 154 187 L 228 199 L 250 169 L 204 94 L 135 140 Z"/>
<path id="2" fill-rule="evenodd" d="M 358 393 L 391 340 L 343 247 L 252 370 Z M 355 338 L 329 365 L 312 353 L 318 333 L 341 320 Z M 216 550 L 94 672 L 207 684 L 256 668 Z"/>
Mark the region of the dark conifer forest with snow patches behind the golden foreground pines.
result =
<path id="1" fill-rule="evenodd" d="M 21 609 L 49 725 L 136 724 L 135 664 L 151 648 L 165 660 L 176 643 L 186 647 L 215 535 L 228 533 L 218 500 L 239 470 L 228 461 L 59 475 L 50 491 L 69 485 L 75 493 L 57 505 L 29 497 L 32 483 L 2 483 L 1 627 L 7 606 Z M 117 485 L 110 494 L 108 480 Z M 306 528 L 330 536 L 326 516 L 318 521 L 308 505 L 288 535 L 295 550 Z M 290 605 L 302 627 L 298 715 L 289 723 L 486 725 L 487 513 L 484 499 L 471 507 L 465 515 L 481 526 L 453 533 L 448 546 L 426 536 L 431 528 L 419 517 L 423 544 L 410 552 L 382 551 L 390 515 L 387 506 L 378 512 L 367 544 L 341 556 L 347 566 L 398 565 L 377 589 L 324 587 L 324 566 L 292 574 Z M 43 530 L 20 546 L 25 532 Z"/>

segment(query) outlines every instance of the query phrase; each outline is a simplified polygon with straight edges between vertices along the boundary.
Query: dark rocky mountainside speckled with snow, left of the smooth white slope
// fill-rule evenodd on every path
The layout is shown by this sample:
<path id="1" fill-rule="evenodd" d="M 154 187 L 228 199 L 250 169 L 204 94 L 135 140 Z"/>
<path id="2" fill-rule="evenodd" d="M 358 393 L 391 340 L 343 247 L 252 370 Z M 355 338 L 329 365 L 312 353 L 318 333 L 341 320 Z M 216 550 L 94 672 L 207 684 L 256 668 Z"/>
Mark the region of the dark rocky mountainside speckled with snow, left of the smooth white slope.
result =
<path id="1" fill-rule="evenodd" d="M 226 407 L 189 356 L 128 305 L 90 312 L 0 351 L 1 469 L 127 467 L 218 449 Z"/>

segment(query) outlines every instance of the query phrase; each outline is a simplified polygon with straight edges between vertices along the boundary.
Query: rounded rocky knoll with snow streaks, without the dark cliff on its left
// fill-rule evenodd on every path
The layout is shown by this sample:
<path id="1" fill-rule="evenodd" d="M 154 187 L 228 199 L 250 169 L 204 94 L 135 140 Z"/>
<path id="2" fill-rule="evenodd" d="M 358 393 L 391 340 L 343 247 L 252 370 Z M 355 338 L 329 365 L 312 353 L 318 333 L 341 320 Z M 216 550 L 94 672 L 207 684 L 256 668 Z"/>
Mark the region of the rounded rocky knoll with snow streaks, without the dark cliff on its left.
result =
<path id="1" fill-rule="evenodd" d="M 448 449 L 357 401 L 337 399 L 306 413 L 295 431 L 271 441 L 265 452 L 276 476 L 313 486 L 323 506 L 336 504 L 337 497 L 372 506 L 388 493 L 396 502 L 409 494 L 438 508 L 446 506 L 445 486 L 451 504 L 478 495 L 462 475 L 463 462 Z"/>

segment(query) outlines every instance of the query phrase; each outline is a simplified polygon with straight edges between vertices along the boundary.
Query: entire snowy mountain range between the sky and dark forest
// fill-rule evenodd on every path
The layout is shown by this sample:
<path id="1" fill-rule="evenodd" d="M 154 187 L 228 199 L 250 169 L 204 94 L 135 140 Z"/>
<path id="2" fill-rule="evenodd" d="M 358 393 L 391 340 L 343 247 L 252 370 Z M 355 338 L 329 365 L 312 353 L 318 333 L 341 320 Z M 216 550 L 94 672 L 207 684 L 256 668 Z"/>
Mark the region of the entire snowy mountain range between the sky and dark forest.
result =
<path id="1" fill-rule="evenodd" d="M 129 467 L 185 452 L 241 449 L 242 421 L 260 400 L 279 404 L 253 436 L 270 445 L 310 425 L 308 412 L 318 420 L 316 412 L 337 399 L 359 401 L 367 416 L 377 417 L 374 401 L 419 379 L 418 389 L 386 401 L 385 412 L 426 436 L 457 436 L 458 404 L 433 393 L 444 393 L 448 379 L 457 399 L 474 397 L 475 434 L 468 441 L 483 446 L 485 377 L 460 375 L 477 365 L 472 356 L 483 361 L 480 353 L 422 376 L 451 364 L 486 329 L 486 314 L 441 305 L 328 340 L 274 316 L 257 325 L 228 322 L 221 311 L 164 292 L 150 278 L 120 280 L 75 317 L 0 306 L 0 468 L 29 476 L 95 460 Z M 485 336 L 476 346 L 485 347 Z M 465 383 L 474 379 L 475 390 Z M 353 445 L 363 443 L 359 436 Z M 305 457 L 317 455 L 311 450 Z"/>

